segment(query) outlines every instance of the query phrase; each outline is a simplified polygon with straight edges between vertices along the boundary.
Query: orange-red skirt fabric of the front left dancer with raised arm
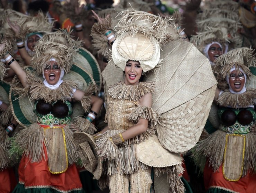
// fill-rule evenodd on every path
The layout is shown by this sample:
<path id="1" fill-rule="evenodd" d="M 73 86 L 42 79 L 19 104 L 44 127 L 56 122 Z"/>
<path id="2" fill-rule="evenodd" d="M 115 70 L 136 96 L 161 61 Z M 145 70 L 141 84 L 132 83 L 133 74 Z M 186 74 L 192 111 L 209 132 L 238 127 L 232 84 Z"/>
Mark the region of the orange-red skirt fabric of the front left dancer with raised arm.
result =
<path id="1" fill-rule="evenodd" d="M 44 153 L 47 160 L 45 145 Z M 62 191 L 82 189 L 79 170 L 75 164 L 69 166 L 62 174 L 52 174 L 46 160 L 43 158 L 41 162 L 31 163 L 29 158 L 23 155 L 19 165 L 19 182 L 24 183 L 25 187 L 54 187 Z"/>

